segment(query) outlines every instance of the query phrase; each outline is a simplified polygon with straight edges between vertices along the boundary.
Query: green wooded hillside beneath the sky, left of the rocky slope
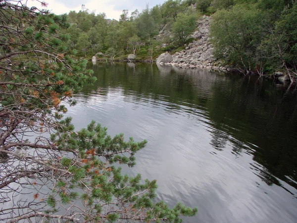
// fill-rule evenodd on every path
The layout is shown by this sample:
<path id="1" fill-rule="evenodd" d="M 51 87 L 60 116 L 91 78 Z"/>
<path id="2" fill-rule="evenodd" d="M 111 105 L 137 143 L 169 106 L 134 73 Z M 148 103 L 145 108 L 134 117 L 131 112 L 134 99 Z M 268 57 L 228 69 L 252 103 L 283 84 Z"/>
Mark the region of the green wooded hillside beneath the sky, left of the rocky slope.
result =
<path id="1" fill-rule="evenodd" d="M 150 60 L 166 51 L 181 50 L 191 41 L 187 37 L 194 32 L 201 14 L 189 7 L 195 3 L 195 0 L 168 0 L 152 8 L 147 6 L 142 12 L 124 9 L 119 21 L 106 19 L 104 13 L 96 15 L 83 6 L 79 12 L 69 12 L 71 26 L 64 32 L 70 35 L 69 45 L 79 51 L 78 56 L 91 58 L 98 52 L 113 52 L 113 59 L 135 54 L 138 60 Z M 168 35 L 155 38 L 160 30 Z M 161 47 L 163 44 L 166 47 Z"/>

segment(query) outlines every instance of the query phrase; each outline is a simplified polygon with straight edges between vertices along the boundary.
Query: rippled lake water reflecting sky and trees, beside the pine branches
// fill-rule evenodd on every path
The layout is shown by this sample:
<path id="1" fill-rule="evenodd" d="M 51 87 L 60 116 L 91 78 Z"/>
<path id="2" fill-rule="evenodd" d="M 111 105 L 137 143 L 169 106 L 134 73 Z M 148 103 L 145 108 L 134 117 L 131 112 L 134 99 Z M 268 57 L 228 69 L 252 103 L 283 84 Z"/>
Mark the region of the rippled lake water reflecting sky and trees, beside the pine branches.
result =
<path id="1" fill-rule="evenodd" d="M 198 207 L 191 223 L 297 222 L 297 89 L 206 70 L 92 65 L 98 78 L 69 108 L 111 135 L 148 140 L 130 175 L 158 199 Z"/>

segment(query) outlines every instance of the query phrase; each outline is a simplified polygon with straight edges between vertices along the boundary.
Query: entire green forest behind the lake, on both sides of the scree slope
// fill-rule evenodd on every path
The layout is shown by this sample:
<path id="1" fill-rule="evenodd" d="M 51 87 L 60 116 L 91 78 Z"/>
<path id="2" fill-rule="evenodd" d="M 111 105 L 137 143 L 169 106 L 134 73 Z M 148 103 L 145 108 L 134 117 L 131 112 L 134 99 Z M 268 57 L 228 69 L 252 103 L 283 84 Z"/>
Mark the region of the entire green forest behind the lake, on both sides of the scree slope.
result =
<path id="1" fill-rule="evenodd" d="M 182 51 L 201 15 L 210 15 L 209 42 L 222 64 L 245 73 L 297 74 L 297 2 L 295 0 L 167 0 L 139 12 L 124 9 L 119 21 L 85 8 L 70 11 L 69 45 L 80 56 L 107 55 L 123 60 L 153 60 Z M 79 35 L 78 35 L 79 34 Z"/>

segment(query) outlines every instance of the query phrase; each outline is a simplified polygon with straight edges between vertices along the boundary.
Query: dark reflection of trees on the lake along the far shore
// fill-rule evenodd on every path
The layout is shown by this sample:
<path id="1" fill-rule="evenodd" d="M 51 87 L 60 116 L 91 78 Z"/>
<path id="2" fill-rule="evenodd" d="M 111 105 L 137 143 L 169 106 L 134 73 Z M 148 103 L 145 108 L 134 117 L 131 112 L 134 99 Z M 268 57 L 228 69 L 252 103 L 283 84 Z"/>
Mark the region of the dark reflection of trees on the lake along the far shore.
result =
<path id="1" fill-rule="evenodd" d="M 136 101 L 168 102 L 189 117 L 203 113 L 213 129 L 213 148 L 222 151 L 229 143 L 236 156 L 247 151 L 263 167 L 257 175 L 268 185 L 279 185 L 278 178 L 297 188 L 295 86 L 155 64 L 97 63 L 93 67 L 98 81 L 84 89 L 87 100 L 94 91 L 108 95 L 117 88 Z"/>

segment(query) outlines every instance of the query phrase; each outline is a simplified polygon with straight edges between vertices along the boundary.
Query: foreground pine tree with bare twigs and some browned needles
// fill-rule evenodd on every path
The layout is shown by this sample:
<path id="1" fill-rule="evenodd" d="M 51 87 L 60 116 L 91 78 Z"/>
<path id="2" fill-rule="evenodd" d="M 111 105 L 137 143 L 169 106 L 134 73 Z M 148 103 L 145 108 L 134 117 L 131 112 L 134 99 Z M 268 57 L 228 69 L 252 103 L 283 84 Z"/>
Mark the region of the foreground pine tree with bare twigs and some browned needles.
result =
<path id="1" fill-rule="evenodd" d="M 194 216 L 196 208 L 153 203 L 155 180 L 114 166 L 133 167 L 146 140 L 111 137 L 94 121 L 76 132 L 63 118 L 72 95 L 96 78 L 86 60 L 71 57 L 69 37 L 59 32 L 66 17 L 25 2 L 0 1 L 0 220 L 178 223 Z"/>

